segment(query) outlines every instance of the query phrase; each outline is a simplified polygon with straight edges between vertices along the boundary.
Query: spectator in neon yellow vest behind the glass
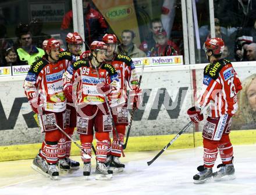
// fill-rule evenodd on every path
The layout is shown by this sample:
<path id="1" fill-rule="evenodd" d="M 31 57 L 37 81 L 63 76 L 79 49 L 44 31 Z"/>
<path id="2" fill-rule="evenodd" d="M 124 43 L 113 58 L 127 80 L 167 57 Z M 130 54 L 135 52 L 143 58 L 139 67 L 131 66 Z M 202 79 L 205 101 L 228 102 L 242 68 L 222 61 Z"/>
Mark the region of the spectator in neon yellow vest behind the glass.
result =
<path id="1" fill-rule="evenodd" d="M 44 50 L 32 45 L 32 34 L 28 24 L 19 24 L 16 28 L 16 36 L 19 43 L 17 53 L 23 64 L 31 65 L 37 57 L 44 55 Z"/>

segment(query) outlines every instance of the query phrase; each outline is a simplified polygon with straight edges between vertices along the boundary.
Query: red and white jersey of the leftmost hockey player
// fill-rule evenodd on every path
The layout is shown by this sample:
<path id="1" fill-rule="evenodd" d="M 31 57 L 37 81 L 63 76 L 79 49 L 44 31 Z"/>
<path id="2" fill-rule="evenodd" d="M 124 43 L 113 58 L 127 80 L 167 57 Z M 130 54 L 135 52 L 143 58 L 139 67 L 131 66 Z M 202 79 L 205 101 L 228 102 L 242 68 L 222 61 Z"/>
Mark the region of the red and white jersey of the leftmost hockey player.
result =
<path id="1" fill-rule="evenodd" d="M 49 63 L 44 57 L 35 61 L 23 85 L 27 98 L 29 100 L 37 98 L 37 104 L 43 105 L 46 111 L 59 113 L 65 110 L 62 75 L 69 63 L 69 60 Z"/>

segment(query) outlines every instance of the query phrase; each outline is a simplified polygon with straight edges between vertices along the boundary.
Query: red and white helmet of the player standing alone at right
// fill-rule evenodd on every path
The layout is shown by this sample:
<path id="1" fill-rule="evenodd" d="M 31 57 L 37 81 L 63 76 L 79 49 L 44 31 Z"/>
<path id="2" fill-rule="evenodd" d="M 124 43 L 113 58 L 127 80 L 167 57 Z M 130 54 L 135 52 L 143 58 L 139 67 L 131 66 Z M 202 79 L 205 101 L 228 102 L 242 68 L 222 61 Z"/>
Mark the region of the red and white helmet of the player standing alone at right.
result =
<path id="1" fill-rule="evenodd" d="M 209 50 L 212 51 L 213 55 L 222 55 L 224 50 L 225 44 L 222 38 L 211 38 L 205 41 L 204 43 L 204 50 L 208 52 Z"/>

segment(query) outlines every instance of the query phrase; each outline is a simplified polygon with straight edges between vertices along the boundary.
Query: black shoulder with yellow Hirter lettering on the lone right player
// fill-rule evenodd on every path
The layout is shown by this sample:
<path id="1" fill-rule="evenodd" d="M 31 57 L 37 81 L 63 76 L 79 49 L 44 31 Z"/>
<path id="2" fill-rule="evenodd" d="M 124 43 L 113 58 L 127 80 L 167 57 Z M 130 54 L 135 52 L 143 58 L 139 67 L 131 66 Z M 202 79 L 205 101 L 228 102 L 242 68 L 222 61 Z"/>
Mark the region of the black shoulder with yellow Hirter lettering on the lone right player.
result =
<path id="1" fill-rule="evenodd" d="M 225 65 L 223 60 L 208 64 L 204 68 L 204 75 L 208 75 L 210 78 L 216 80 L 219 77 L 219 72 Z"/>

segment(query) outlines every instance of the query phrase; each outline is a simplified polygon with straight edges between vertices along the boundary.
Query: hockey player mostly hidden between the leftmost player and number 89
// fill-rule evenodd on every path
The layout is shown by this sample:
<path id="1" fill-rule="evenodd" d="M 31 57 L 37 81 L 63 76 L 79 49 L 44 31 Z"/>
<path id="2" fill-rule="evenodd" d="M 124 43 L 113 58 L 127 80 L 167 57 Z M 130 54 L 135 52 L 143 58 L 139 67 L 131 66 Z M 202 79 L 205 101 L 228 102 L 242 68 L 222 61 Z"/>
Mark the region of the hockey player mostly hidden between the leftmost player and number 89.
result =
<path id="1" fill-rule="evenodd" d="M 77 32 L 69 32 L 66 36 L 67 50 L 60 53 L 60 59 L 69 60 L 71 63 L 76 62 L 81 54 L 83 46 L 83 38 Z M 65 132 L 71 137 L 76 127 L 76 107 L 73 102 L 67 100 L 66 105 L 66 128 Z M 71 140 L 62 134 L 62 138 L 58 142 L 58 158 L 59 167 L 63 170 L 77 170 L 80 163 L 70 159 Z"/>

